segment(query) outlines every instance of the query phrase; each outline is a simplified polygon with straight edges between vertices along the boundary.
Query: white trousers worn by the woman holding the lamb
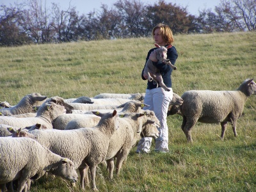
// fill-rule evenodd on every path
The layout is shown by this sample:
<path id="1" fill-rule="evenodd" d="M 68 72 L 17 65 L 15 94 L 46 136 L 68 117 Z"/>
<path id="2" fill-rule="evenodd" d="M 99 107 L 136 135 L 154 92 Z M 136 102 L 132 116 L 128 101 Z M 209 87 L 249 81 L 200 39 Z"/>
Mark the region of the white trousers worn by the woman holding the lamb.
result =
<path id="1" fill-rule="evenodd" d="M 160 152 L 167 152 L 168 149 L 168 125 L 166 122 L 167 111 L 172 100 L 173 92 L 170 88 L 170 92 L 164 91 L 163 88 L 154 88 L 152 90 L 146 90 L 144 103 L 148 104 L 149 107 L 143 109 L 149 109 L 154 111 L 158 120 L 160 121 L 161 127 L 159 130 L 159 138 L 156 139 L 155 150 Z M 152 138 L 141 138 L 138 143 L 136 152 L 150 152 Z"/>

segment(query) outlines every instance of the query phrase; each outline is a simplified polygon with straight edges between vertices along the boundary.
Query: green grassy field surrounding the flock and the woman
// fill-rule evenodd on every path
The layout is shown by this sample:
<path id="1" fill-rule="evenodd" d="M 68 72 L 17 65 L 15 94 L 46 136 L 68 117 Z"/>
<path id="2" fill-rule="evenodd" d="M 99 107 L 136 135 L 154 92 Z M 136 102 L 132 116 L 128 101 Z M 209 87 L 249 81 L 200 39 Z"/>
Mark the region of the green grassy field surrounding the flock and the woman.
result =
<path id="1" fill-rule="evenodd" d="M 236 90 L 255 78 L 256 33 L 177 35 L 179 58 L 173 71 L 173 92 Z M 141 80 L 151 38 L 101 40 L 68 44 L 0 47 L 0 100 L 17 104 L 38 92 L 65 99 L 99 93 L 144 93 Z M 120 177 L 109 180 L 97 168 L 100 191 L 256 191 L 256 98 L 252 95 L 237 122 L 220 140 L 220 124 L 196 124 L 194 143 L 180 129 L 182 118 L 168 116 L 170 153 L 138 155 L 132 148 Z M 154 149 L 154 143 L 152 146 Z M 77 186 L 79 182 L 77 183 Z M 80 191 L 56 177 L 42 177 L 31 191 Z M 89 189 L 86 189 L 87 191 Z"/>

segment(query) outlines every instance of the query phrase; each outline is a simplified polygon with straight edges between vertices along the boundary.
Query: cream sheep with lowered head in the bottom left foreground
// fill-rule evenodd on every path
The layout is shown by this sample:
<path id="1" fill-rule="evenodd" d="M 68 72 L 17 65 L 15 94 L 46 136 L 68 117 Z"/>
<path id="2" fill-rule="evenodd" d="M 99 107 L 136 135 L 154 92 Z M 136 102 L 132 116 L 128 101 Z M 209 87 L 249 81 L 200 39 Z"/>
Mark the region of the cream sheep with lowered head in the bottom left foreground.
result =
<path id="1" fill-rule="evenodd" d="M 45 172 L 76 182 L 78 175 L 70 159 L 52 153 L 31 138 L 0 138 L 0 184 L 19 179 L 22 191 L 29 179 L 39 179 Z M 26 191 L 26 189 L 25 189 Z"/>

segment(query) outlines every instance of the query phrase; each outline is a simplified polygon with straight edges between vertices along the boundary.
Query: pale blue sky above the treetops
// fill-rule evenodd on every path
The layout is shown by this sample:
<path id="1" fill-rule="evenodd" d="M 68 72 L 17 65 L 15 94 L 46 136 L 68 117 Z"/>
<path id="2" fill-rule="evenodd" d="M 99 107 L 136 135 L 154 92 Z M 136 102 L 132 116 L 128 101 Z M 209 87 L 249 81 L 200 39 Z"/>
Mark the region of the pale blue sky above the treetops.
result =
<path id="1" fill-rule="evenodd" d="M 9 6 L 14 2 L 21 3 L 26 0 L 1 0 L 0 5 L 4 4 Z M 69 4 L 71 6 L 76 6 L 76 11 L 79 12 L 79 15 L 83 13 L 86 15 L 87 13 L 92 12 L 93 10 L 101 10 L 100 6 L 102 4 L 107 4 L 108 8 L 113 7 L 113 4 L 118 0 L 41 0 L 42 2 L 46 2 L 47 6 L 51 7 L 51 3 L 57 3 L 60 5 L 62 10 L 67 10 Z M 140 0 L 141 3 L 154 4 L 157 3 L 158 0 Z M 220 4 L 221 0 L 164 0 L 165 3 L 176 3 L 180 7 L 187 7 L 187 11 L 191 15 L 198 16 L 198 10 L 204 10 L 211 8 L 212 12 L 214 11 L 214 7 Z M 48 5 L 49 4 L 49 5 Z"/>

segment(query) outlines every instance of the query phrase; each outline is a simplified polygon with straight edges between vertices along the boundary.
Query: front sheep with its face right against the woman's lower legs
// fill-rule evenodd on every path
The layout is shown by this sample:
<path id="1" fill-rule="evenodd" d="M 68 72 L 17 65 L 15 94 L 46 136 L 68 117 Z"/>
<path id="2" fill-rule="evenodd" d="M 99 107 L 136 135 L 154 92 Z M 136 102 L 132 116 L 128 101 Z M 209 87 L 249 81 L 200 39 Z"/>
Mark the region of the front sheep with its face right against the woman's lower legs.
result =
<path id="1" fill-rule="evenodd" d="M 144 114 L 144 115 L 141 115 Z M 156 139 L 159 136 L 160 122 L 154 111 L 145 110 L 143 113 L 124 113 L 119 119 L 119 128 L 111 136 L 108 153 L 105 157 L 110 179 L 113 179 L 114 157 L 116 157 L 116 175 L 119 175 L 122 163 L 132 147 L 140 140 L 141 136 Z"/>

